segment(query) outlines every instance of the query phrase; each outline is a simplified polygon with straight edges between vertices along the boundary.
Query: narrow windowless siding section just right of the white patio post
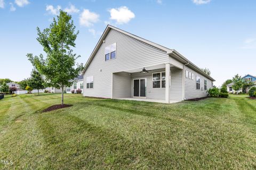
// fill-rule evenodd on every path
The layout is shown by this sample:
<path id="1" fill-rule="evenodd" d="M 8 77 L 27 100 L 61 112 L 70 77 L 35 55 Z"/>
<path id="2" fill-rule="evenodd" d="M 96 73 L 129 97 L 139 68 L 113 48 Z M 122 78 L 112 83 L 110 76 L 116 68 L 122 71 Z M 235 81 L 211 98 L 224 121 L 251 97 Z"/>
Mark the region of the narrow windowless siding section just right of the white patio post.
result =
<path id="1" fill-rule="evenodd" d="M 171 69 L 170 100 L 182 100 L 182 70 Z"/>

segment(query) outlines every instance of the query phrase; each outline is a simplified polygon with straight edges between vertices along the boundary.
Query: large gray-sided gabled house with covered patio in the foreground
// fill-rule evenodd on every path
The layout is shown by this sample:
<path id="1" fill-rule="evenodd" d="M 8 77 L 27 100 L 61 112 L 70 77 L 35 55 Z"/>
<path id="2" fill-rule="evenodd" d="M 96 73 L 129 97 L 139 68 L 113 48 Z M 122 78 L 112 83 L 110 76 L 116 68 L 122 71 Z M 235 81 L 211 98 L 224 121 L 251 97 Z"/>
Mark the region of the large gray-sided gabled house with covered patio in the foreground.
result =
<path id="1" fill-rule="evenodd" d="M 111 25 L 82 74 L 84 96 L 161 103 L 205 97 L 215 81 L 176 50 Z"/>

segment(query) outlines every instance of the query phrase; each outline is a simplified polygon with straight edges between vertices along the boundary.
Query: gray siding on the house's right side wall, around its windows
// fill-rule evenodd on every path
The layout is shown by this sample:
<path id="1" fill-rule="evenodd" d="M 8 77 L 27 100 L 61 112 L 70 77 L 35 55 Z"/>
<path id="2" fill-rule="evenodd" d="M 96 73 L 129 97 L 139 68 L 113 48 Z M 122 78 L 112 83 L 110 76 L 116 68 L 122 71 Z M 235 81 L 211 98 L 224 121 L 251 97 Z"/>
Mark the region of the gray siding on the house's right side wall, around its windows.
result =
<path id="1" fill-rule="evenodd" d="M 185 99 L 201 98 L 207 96 L 207 91 L 204 90 L 204 80 L 207 81 L 207 90 L 212 88 L 212 81 L 205 78 L 202 74 L 199 74 L 189 67 L 185 66 L 185 70 L 192 72 L 194 74 L 193 80 L 186 78 L 186 73 L 184 71 L 185 78 Z M 196 75 L 200 77 L 200 90 L 196 89 Z"/>

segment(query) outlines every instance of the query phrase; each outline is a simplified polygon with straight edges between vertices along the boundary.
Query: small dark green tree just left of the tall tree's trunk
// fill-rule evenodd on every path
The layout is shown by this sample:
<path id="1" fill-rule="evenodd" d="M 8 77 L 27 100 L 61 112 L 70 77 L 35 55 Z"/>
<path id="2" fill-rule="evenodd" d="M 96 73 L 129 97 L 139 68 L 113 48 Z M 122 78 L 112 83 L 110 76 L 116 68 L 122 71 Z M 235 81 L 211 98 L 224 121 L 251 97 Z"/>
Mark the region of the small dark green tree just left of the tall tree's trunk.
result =
<path id="1" fill-rule="evenodd" d="M 38 92 L 38 96 L 39 96 L 39 89 L 44 89 L 44 78 L 42 77 L 42 75 L 36 71 L 35 69 L 33 69 L 31 71 L 30 74 L 30 79 L 28 81 L 28 85 L 32 88 L 32 89 L 37 89 Z"/>

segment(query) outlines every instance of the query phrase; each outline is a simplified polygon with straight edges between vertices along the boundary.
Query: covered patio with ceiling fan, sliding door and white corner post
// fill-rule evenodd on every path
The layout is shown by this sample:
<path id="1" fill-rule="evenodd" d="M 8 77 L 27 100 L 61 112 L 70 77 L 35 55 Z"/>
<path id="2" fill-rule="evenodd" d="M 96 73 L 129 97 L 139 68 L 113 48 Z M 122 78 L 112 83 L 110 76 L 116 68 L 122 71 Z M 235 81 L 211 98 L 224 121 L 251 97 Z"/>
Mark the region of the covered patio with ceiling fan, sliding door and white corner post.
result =
<path id="1" fill-rule="evenodd" d="M 114 99 L 156 103 L 177 103 L 183 99 L 183 69 L 170 63 L 113 73 L 112 81 Z"/>

